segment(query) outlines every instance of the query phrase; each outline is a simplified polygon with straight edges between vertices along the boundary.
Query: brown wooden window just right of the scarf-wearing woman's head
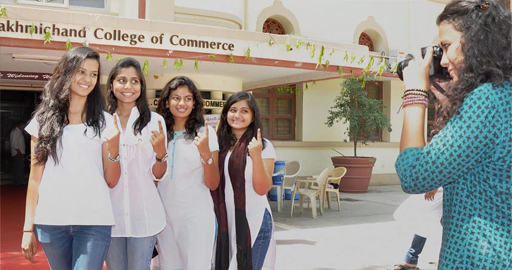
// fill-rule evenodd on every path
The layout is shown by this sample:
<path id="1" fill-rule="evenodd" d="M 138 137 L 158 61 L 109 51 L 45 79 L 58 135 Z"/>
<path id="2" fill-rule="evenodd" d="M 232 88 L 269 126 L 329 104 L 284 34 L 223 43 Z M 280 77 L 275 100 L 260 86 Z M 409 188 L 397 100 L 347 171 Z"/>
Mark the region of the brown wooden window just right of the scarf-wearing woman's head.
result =
<path id="1" fill-rule="evenodd" d="M 295 140 L 295 85 L 255 90 L 252 94 L 260 108 L 262 136 L 273 140 Z"/>

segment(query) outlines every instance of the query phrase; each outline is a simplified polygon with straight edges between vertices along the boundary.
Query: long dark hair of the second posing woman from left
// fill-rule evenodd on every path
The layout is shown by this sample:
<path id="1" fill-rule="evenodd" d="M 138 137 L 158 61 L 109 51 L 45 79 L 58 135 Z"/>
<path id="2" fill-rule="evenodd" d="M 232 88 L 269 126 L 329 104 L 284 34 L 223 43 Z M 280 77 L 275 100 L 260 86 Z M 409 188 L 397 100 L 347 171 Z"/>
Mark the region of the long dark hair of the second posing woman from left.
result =
<path id="1" fill-rule="evenodd" d="M 109 105 L 109 113 L 114 114 L 117 109 L 117 98 L 114 95 L 114 80 L 122 69 L 130 68 L 131 66 L 137 71 L 137 76 L 140 80 L 140 96 L 135 101 L 137 109 L 139 110 L 139 118 L 133 123 L 133 133 L 137 135 L 137 133 L 142 134 L 142 129 L 151 121 L 151 110 L 147 105 L 146 98 L 146 80 L 144 79 L 139 61 L 132 57 L 127 57 L 117 62 L 110 71 L 109 79 L 106 81 L 106 100 Z"/>

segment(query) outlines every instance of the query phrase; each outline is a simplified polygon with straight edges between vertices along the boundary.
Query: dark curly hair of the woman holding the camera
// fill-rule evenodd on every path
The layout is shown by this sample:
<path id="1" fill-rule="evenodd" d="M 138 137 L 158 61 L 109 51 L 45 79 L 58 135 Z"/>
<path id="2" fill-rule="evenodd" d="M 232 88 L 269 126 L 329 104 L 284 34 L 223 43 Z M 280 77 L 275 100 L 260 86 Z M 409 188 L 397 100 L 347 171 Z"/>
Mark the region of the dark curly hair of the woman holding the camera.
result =
<path id="1" fill-rule="evenodd" d="M 432 134 L 457 114 L 464 98 L 483 83 L 502 85 L 512 76 L 511 13 L 494 0 L 454 0 L 437 17 L 462 33 L 464 57 L 457 70 L 459 79 L 448 86 L 449 104 L 441 108 Z"/>

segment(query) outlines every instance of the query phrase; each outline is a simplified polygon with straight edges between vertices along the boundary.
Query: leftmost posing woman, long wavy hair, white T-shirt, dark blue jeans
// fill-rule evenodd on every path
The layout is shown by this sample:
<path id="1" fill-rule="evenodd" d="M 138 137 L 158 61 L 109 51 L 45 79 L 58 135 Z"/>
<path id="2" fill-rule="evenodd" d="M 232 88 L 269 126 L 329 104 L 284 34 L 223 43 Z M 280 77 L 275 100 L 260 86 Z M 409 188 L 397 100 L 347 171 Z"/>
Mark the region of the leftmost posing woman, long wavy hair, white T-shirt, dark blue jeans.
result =
<path id="1" fill-rule="evenodd" d="M 25 128 L 32 135 L 32 161 L 22 251 L 35 263 L 37 237 L 54 270 L 100 270 L 110 245 L 109 187 L 120 175 L 114 162 L 119 130 L 103 111 L 99 77 L 96 51 L 68 51 Z"/>

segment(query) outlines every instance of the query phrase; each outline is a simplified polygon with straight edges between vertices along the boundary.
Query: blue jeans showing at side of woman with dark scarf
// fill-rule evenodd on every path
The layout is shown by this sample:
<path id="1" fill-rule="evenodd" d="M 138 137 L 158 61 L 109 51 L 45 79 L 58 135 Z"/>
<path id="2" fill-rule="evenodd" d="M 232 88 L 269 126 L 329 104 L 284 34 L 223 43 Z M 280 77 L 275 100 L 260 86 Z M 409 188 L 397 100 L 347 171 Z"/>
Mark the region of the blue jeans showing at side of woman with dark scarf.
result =
<path id="1" fill-rule="evenodd" d="M 252 270 L 260 270 L 267 256 L 270 238 L 272 237 L 272 216 L 265 209 L 263 221 L 261 222 L 260 232 L 252 245 Z"/>

